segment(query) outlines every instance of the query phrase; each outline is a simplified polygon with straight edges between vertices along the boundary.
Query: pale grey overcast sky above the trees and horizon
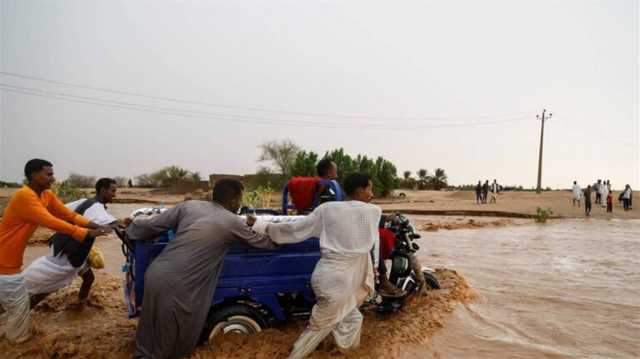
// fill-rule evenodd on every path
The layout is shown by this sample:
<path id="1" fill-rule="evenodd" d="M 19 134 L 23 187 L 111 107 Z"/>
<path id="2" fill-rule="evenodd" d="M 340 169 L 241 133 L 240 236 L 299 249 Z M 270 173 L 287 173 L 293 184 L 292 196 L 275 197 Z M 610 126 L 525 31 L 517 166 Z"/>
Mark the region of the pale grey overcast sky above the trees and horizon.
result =
<path id="1" fill-rule="evenodd" d="M 547 108 L 543 185 L 640 188 L 638 1 L 0 1 L 0 179 L 242 174 L 289 138 L 530 187 Z"/>

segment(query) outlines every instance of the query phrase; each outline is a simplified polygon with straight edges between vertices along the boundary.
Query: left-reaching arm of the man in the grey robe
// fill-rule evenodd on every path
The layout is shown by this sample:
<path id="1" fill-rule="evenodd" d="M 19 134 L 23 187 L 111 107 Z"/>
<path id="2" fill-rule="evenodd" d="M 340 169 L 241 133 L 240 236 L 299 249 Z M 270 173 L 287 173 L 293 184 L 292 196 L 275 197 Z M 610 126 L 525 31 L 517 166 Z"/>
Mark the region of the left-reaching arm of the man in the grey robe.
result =
<path id="1" fill-rule="evenodd" d="M 183 207 L 184 203 L 180 203 L 151 217 L 137 217 L 127 227 L 129 239 L 144 240 L 155 238 L 170 229 L 177 228 L 183 215 Z"/>

